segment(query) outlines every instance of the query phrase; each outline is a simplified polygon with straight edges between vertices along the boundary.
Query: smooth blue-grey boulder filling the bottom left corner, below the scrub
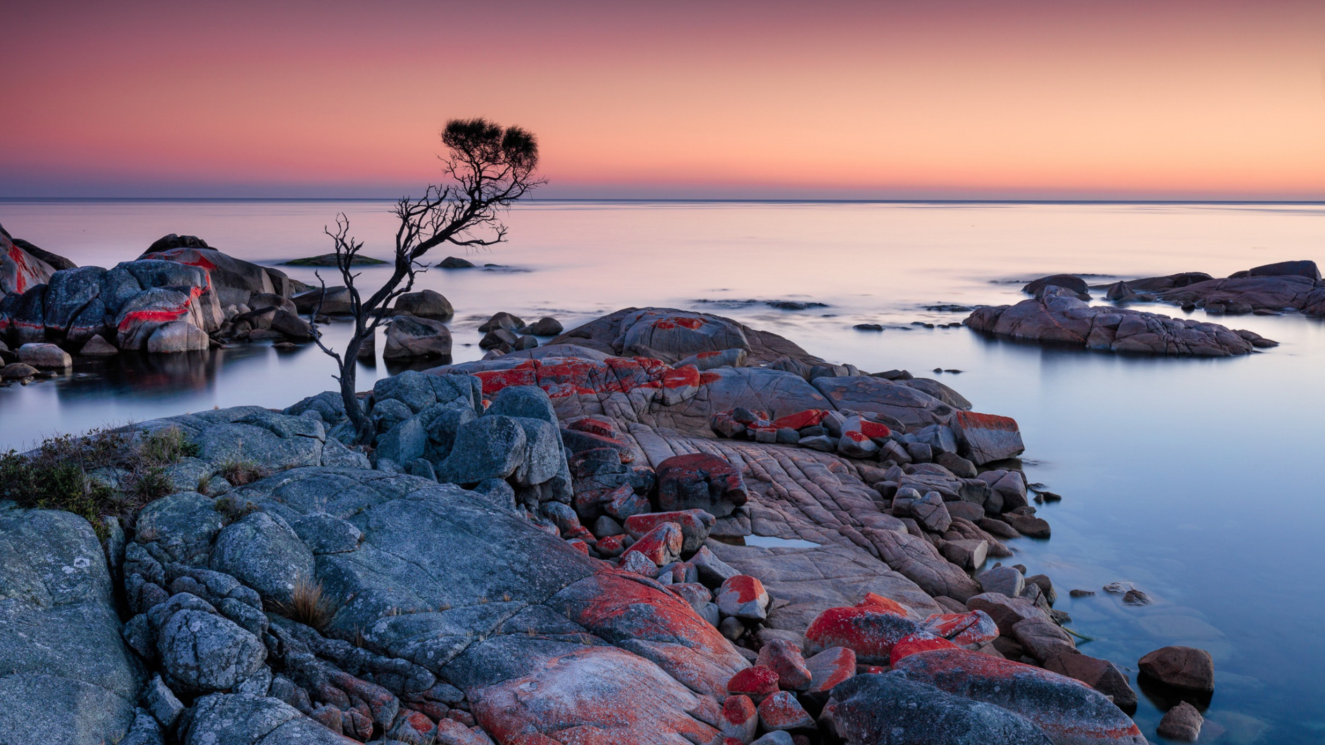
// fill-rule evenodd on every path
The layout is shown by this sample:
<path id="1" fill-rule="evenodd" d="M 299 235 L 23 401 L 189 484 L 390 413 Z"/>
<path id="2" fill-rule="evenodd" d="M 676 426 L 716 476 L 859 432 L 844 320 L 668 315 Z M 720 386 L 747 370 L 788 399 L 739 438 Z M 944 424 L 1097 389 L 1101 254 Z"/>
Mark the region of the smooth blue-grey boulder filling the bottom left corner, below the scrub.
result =
<path id="1" fill-rule="evenodd" d="M 68 512 L 0 509 L 0 742 L 101 745 L 144 675 L 121 639 L 105 554 Z"/>

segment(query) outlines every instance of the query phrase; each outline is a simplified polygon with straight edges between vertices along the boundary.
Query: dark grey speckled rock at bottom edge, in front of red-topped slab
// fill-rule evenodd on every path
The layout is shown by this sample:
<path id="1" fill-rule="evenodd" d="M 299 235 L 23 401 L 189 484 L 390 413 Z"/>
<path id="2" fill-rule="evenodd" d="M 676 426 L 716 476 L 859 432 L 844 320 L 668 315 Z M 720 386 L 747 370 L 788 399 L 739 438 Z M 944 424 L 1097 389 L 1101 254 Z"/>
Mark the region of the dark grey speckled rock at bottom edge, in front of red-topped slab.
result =
<path id="1" fill-rule="evenodd" d="M 848 745 L 1052 742 L 1043 730 L 1012 712 L 946 693 L 897 672 L 857 675 L 841 683 L 833 688 L 822 718 Z"/>

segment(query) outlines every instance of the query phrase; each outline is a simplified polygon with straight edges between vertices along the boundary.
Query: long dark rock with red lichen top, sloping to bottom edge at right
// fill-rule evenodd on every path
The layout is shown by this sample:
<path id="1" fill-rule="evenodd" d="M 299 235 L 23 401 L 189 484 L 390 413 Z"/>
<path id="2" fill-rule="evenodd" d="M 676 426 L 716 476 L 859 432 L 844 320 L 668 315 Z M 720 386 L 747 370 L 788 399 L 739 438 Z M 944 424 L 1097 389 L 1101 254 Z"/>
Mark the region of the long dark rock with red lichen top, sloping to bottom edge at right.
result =
<path id="1" fill-rule="evenodd" d="M 1035 722 L 1055 745 L 1146 738 L 1104 693 L 1071 677 L 969 650 L 935 650 L 898 660 L 893 673 L 954 696 L 1002 707 Z"/>

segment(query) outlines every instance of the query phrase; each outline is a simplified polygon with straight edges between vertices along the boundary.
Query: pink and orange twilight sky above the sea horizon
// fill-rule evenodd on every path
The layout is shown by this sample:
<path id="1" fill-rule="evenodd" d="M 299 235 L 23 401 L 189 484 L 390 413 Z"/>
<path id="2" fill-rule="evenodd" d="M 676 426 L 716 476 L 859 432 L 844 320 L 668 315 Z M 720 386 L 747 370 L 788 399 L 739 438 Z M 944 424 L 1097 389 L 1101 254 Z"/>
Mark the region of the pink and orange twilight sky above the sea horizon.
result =
<path id="1" fill-rule="evenodd" d="M 1322 0 L 7 0 L 0 196 L 1325 199 Z"/>

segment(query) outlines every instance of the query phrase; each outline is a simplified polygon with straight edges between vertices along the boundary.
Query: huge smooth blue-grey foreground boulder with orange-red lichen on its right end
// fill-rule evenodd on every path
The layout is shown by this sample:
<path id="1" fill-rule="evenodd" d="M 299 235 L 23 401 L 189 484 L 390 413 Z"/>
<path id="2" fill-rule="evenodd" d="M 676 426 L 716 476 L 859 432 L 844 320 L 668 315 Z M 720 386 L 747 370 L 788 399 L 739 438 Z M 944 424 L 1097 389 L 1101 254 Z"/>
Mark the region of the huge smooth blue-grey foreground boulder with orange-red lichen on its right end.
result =
<path id="1" fill-rule="evenodd" d="M 498 741 L 708 742 L 704 712 L 747 665 L 681 598 L 452 484 L 302 468 L 231 496 L 352 524 L 358 547 L 314 557 L 323 593 L 346 599 L 326 634 L 461 688 Z"/>

